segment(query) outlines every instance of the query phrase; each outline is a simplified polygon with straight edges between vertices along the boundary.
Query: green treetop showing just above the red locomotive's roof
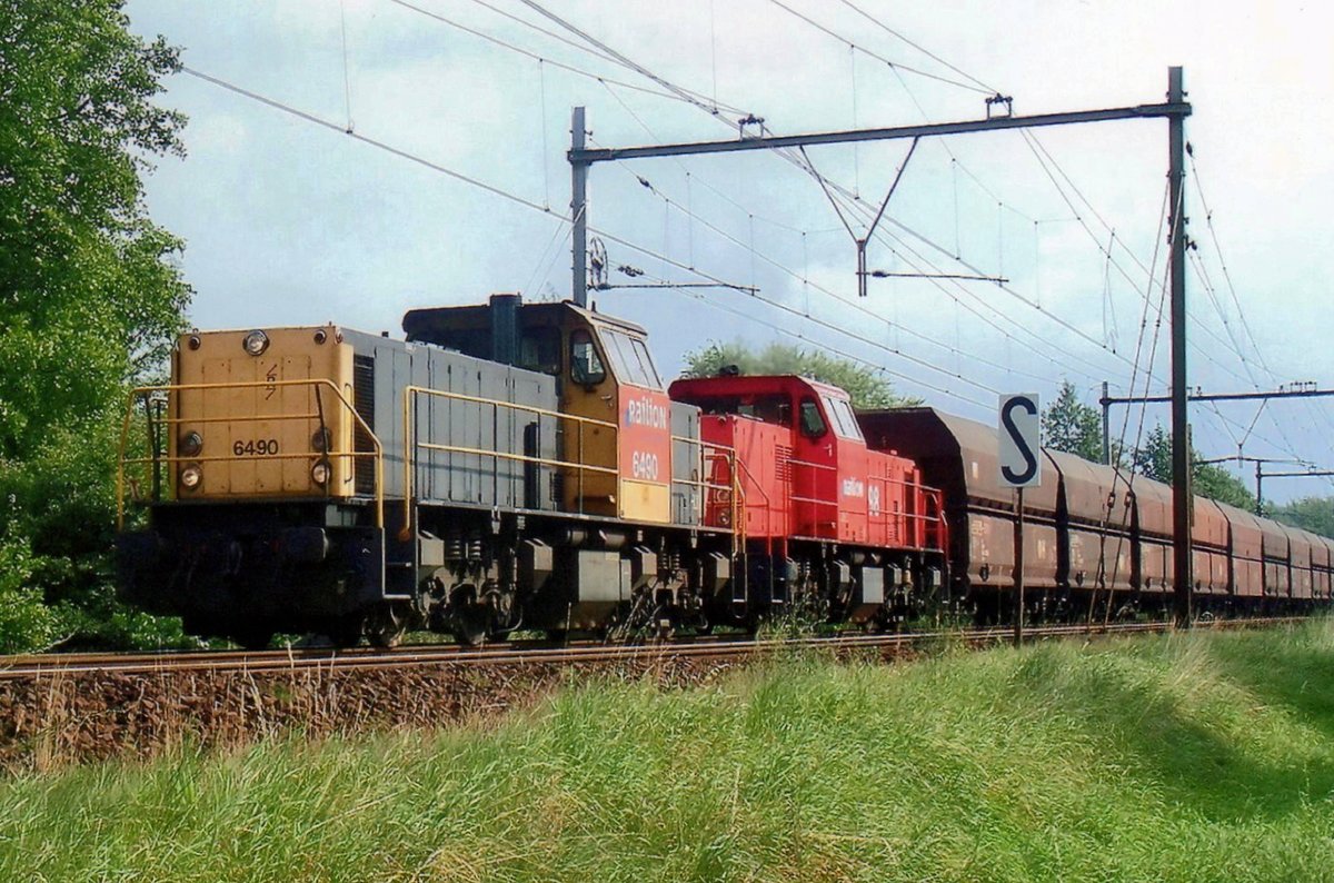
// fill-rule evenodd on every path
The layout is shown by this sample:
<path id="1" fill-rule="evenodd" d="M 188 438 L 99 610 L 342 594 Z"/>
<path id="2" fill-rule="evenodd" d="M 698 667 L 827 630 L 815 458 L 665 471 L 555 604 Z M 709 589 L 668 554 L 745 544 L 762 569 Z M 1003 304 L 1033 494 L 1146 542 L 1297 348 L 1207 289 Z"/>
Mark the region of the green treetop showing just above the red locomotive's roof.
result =
<path id="1" fill-rule="evenodd" d="M 920 399 L 899 396 L 884 375 L 874 368 L 847 359 L 839 359 L 819 351 L 770 343 L 755 351 L 744 343 L 710 341 L 686 353 L 687 377 L 712 377 L 728 365 L 736 365 L 742 373 L 784 375 L 792 373 L 827 383 L 848 393 L 852 407 L 860 409 L 902 408 L 922 404 Z"/>

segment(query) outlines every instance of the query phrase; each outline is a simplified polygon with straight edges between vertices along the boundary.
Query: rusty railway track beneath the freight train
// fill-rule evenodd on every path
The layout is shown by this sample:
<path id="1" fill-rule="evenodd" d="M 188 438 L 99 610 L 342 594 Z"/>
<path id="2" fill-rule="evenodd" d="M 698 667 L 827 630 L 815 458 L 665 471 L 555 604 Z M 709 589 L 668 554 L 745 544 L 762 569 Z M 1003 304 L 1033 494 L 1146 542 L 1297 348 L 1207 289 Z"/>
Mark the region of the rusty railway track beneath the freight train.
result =
<path id="1" fill-rule="evenodd" d="M 1261 628 L 1301 622 L 1302 618 L 1262 618 L 1213 620 L 1197 628 Z M 1171 631 L 1166 622 L 1110 623 L 1106 626 L 1034 626 L 1025 630 L 1026 640 L 1134 635 Z M 301 670 L 386 670 L 430 666 L 495 664 L 590 664 L 643 662 L 646 659 L 726 659 L 754 658 L 791 648 L 824 648 L 834 652 L 880 651 L 902 654 L 939 640 L 960 640 L 983 647 L 1013 640 L 1014 630 L 972 628 L 963 631 L 923 631 L 874 635 L 831 635 L 791 639 L 698 636 L 675 640 L 610 644 L 602 642 L 510 642 L 486 647 L 458 644 L 418 644 L 395 650 L 267 650 L 267 651 L 175 651 L 148 654 L 44 654 L 0 656 L 0 679 L 69 676 L 80 674 L 148 675 L 200 671 L 301 671 Z"/>

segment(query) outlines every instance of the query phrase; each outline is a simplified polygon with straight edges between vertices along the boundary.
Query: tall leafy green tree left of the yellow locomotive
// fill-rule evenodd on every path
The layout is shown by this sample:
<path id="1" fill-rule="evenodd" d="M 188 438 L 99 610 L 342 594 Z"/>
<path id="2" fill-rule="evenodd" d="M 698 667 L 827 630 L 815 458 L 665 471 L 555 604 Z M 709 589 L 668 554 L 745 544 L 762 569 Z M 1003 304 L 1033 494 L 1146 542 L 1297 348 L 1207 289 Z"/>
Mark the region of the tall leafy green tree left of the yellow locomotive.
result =
<path id="1" fill-rule="evenodd" d="M 113 599 L 115 424 L 191 293 L 141 183 L 184 152 L 184 117 L 153 103 L 176 49 L 121 8 L 0 0 L 0 611 L 39 590 L 59 615 L 0 614 L 0 631 L 45 623 L 9 647 L 156 627 Z"/>

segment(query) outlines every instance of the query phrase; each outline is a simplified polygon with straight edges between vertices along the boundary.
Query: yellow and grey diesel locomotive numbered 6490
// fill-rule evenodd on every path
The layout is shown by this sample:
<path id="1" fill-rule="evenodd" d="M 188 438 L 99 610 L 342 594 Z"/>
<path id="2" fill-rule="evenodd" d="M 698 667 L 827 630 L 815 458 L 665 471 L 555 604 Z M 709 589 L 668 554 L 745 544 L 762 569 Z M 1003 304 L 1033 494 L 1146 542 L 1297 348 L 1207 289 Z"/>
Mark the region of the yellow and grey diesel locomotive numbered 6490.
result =
<path id="1" fill-rule="evenodd" d="M 183 335 L 171 384 L 125 416 L 121 500 L 148 512 L 119 540 L 127 598 L 247 647 L 703 624 L 730 603 L 738 495 L 706 476 L 735 471 L 711 468 L 728 454 L 667 397 L 642 328 L 518 295 L 403 325 Z"/>

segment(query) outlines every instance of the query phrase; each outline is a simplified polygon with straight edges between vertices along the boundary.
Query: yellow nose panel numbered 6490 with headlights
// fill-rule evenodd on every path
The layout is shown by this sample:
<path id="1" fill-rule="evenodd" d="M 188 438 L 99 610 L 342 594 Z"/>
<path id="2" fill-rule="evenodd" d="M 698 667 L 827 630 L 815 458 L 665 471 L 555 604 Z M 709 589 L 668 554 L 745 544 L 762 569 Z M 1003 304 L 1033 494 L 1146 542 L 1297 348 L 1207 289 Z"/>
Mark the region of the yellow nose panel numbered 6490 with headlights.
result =
<path id="1" fill-rule="evenodd" d="M 168 405 L 177 496 L 351 496 L 352 365 L 332 325 L 183 337 Z"/>

